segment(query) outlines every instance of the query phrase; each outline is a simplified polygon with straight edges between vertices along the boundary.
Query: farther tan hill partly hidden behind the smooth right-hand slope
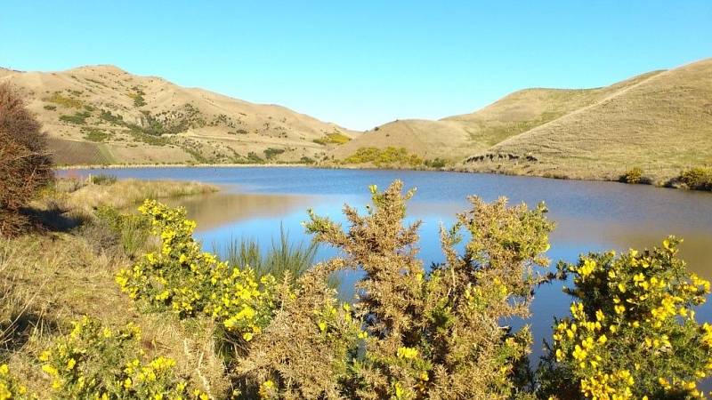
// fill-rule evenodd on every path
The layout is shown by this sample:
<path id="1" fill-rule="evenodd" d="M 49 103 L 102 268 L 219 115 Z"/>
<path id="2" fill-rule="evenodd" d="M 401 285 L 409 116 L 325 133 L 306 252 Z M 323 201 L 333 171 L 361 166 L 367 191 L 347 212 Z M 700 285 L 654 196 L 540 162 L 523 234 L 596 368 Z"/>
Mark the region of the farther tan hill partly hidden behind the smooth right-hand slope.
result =
<path id="1" fill-rule="evenodd" d="M 514 92 L 470 114 L 449 116 L 438 121 L 399 120 L 364 132 L 333 150 L 343 159 L 358 148 L 406 148 L 428 158 L 441 157 L 457 163 L 473 153 L 486 151 L 502 140 L 527 132 L 582 107 L 636 84 L 660 71 L 595 89 L 534 88 Z"/>

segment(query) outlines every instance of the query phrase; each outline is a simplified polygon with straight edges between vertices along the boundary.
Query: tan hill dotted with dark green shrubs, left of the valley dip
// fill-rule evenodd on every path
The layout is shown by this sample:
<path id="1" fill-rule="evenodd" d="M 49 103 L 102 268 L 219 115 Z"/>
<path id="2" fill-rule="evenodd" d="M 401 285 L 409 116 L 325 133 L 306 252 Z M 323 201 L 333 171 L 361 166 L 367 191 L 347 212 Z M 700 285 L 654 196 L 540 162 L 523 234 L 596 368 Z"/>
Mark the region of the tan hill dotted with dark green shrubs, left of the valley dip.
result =
<path id="1" fill-rule="evenodd" d="M 183 88 L 113 66 L 0 68 L 50 134 L 58 164 L 254 163 L 319 159 L 356 132 L 276 105 Z"/>

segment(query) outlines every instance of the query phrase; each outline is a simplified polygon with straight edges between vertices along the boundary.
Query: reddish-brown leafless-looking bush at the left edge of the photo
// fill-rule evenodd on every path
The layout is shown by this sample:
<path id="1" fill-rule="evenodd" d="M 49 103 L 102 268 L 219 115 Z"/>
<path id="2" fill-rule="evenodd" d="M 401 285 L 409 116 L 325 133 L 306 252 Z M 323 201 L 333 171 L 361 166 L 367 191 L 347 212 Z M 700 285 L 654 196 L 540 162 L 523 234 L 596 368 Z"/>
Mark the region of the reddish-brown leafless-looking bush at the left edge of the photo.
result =
<path id="1" fill-rule="evenodd" d="M 53 179 L 46 138 L 20 95 L 0 85 L 0 236 L 19 233 L 28 225 L 20 209 L 37 189 Z"/>

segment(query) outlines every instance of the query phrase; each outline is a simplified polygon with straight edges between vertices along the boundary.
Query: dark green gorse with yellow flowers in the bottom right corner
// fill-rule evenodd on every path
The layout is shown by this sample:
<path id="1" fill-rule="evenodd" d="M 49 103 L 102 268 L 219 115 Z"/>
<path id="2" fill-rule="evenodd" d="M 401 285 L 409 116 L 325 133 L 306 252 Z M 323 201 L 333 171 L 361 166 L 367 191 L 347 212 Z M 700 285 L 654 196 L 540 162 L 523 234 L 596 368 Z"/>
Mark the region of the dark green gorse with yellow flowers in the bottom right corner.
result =
<path id="1" fill-rule="evenodd" d="M 570 316 L 554 326 L 542 366 L 544 395 L 695 398 L 712 371 L 712 325 L 695 320 L 709 282 L 685 271 L 675 237 L 661 247 L 561 263 L 573 276 Z"/>

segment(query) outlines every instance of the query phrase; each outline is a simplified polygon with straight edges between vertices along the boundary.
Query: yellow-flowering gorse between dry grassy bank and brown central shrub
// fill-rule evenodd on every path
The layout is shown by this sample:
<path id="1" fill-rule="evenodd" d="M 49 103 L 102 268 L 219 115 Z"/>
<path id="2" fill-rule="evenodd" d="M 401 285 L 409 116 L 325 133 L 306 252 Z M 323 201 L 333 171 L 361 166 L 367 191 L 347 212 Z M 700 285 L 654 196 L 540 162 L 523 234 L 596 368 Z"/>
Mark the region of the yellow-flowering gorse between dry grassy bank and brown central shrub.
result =
<path id="1" fill-rule="evenodd" d="M 146 200 L 139 211 L 150 219 L 160 251 L 118 272 L 116 280 L 123 292 L 181 317 L 212 316 L 242 340 L 262 332 L 275 308 L 274 277 L 257 279 L 250 268 L 230 267 L 214 254 L 202 252 L 192 237 L 196 224 L 186 219 L 182 208 Z"/>

